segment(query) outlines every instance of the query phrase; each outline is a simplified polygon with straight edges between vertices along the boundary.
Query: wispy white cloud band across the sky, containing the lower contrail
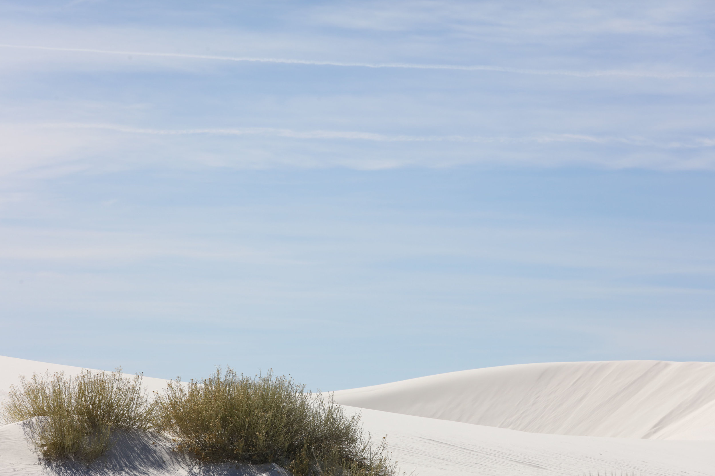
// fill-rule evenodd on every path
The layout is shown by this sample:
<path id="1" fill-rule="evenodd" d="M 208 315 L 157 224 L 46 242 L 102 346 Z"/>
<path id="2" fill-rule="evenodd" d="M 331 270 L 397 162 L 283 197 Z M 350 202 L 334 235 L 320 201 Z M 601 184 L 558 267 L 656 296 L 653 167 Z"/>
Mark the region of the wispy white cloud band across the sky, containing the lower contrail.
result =
<path id="1" fill-rule="evenodd" d="M 352 169 L 492 163 L 651 170 L 715 169 L 715 138 L 579 133 L 415 135 L 271 127 L 147 128 L 112 123 L 0 124 L 0 176 L 162 168 Z M 613 153 L 618 151 L 618 153 Z"/>

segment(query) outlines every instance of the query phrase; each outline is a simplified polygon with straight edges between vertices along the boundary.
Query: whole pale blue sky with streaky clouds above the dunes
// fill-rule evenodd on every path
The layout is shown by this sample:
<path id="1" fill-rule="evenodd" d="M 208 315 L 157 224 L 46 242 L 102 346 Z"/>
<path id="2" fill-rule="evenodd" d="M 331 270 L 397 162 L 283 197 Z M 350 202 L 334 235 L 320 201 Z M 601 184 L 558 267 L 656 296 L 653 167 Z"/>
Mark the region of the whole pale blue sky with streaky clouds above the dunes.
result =
<path id="1" fill-rule="evenodd" d="M 323 390 L 714 360 L 714 16 L 0 0 L 0 354 Z"/>

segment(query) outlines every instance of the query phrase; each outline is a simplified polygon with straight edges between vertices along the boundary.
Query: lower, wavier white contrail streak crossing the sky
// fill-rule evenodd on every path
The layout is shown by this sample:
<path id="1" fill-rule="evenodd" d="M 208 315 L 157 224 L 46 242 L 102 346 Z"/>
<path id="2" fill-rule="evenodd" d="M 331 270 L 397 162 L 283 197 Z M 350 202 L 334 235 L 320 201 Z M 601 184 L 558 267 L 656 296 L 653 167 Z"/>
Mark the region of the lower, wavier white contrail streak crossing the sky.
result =
<path id="1" fill-rule="evenodd" d="M 596 137 L 573 133 L 549 133 L 533 136 L 409 136 L 388 135 L 360 131 L 294 131 L 287 128 L 246 127 L 246 128 L 197 128 L 197 129 L 154 129 L 122 126 L 118 124 L 91 123 L 46 123 L 44 128 L 99 129 L 121 133 L 152 136 L 272 136 L 297 139 L 347 139 L 374 142 L 463 142 L 463 143 L 593 143 L 656 148 L 711 148 L 713 138 L 696 138 L 686 142 L 658 142 L 638 137 Z"/>

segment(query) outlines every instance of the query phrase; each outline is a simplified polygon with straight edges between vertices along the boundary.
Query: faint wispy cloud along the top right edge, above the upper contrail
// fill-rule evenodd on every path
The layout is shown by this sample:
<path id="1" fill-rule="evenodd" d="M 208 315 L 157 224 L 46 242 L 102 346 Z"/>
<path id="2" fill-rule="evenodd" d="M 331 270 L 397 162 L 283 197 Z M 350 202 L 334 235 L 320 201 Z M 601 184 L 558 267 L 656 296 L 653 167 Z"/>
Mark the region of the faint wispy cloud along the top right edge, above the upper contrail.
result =
<path id="1" fill-rule="evenodd" d="M 666 36 L 692 34 L 691 23 L 702 1 L 650 1 L 629 8 L 619 2 L 534 4 L 499 2 L 404 0 L 324 4 L 310 11 L 317 24 L 361 31 L 449 32 L 455 36 L 509 42 L 509 36 L 546 42 L 556 38 L 630 34 Z M 479 28 L 475 28 L 477 24 Z"/>

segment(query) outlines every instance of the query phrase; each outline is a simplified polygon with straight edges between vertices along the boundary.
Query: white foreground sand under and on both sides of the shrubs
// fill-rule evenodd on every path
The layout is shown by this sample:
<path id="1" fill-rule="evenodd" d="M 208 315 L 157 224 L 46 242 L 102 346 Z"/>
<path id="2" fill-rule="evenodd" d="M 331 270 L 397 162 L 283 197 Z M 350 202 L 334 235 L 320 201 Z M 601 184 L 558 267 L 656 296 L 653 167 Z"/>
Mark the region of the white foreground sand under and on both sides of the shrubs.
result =
<path id="1" fill-rule="evenodd" d="M 345 407 L 357 411 L 354 407 Z M 711 476 L 715 441 L 636 440 L 543 435 L 362 410 L 365 428 L 388 435 L 390 451 L 405 472 L 418 476 Z M 157 445 L 152 445 L 157 442 Z M 120 434 L 109 457 L 92 469 L 42 465 L 21 424 L 0 427 L 0 476 L 287 476 L 271 465 L 197 467 L 151 435 Z"/>

